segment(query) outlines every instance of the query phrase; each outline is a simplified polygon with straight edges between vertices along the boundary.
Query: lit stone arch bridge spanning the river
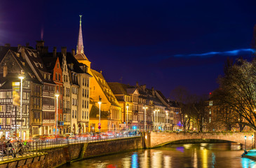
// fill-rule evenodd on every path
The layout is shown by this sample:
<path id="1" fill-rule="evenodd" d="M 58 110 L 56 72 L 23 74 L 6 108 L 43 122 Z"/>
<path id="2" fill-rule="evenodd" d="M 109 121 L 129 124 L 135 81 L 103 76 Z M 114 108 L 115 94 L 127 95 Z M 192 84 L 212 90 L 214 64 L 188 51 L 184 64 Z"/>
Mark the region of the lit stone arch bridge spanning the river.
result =
<path id="1" fill-rule="evenodd" d="M 175 141 L 183 141 L 185 143 L 193 141 L 198 143 L 229 141 L 245 145 L 245 136 L 246 146 L 252 148 L 253 145 L 255 148 L 255 132 L 146 132 L 144 133 L 144 147 L 156 148 L 165 144 L 175 143 Z"/>

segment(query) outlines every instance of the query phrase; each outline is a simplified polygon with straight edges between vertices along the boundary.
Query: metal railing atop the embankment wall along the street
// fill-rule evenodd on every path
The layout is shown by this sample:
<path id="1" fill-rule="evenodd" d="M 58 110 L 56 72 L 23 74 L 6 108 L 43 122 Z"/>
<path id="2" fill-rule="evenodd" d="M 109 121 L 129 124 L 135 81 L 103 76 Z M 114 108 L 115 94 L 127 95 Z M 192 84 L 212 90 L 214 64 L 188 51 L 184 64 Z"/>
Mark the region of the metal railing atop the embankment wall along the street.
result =
<path id="1" fill-rule="evenodd" d="M 16 158 L 27 158 L 38 155 L 45 155 L 48 151 L 53 151 L 62 146 L 71 144 L 83 144 L 96 141 L 109 141 L 112 139 L 126 139 L 130 137 L 140 137 L 140 132 L 120 132 L 118 134 L 90 134 L 82 137 L 63 137 L 56 139 L 36 139 L 33 141 L 4 141 L 0 143 L 0 162 L 13 160 Z"/>

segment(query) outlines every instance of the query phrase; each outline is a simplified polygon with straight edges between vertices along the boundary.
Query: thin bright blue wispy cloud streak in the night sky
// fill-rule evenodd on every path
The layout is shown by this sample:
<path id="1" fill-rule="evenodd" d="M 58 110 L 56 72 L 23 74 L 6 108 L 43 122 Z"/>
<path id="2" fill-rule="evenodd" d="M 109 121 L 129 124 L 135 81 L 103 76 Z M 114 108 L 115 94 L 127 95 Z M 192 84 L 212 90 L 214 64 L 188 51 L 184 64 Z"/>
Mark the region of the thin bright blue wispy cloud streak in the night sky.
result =
<path id="1" fill-rule="evenodd" d="M 230 50 L 230 51 L 222 51 L 222 52 L 206 52 L 202 54 L 189 54 L 189 55 L 174 55 L 174 57 L 212 57 L 214 55 L 223 55 L 223 56 L 237 56 L 241 54 L 252 54 L 255 50 L 251 48 L 247 49 L 238 49 L 238 50 Z"/>

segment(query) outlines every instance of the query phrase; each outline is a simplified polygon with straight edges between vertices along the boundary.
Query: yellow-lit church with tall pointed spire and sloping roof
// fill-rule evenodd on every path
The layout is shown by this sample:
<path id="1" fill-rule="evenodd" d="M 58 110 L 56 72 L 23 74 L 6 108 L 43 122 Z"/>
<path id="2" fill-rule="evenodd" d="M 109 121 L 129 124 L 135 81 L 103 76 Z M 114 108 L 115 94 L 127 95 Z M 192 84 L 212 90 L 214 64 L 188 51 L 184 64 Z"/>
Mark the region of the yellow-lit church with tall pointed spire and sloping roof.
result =
<path id="1" fill-rule="evenodd" d="M 88 73 L 93 76 L 92 78 L 90 78 L 90 76 L 82 77 L 82 79 L 84 78 L 85 81 L 88 81 L 87 85 L 84 85 L 84 88 L 82 88 L 82 90 L 84 89 L 86 92 L 86 96 L 83 97 L 84 101 L 86 102 L 86 108 L 84 109 L 84 111 L 86 111 L 86 119 L 82 120 L 89 121 L 89 129 L 93 132 L 99 131 L 98 123 L 100 116 L 102 119 L 100 126 L 101 131 L 119 129 L 121 124 L 121 106 L 119 106 L 119 103 L 107 85 L 107 82 L 102 76 L 102 73 L 90 69 L 90 61 L 84 54 L 81 15 L 79 25 L 79 38 L 76 46 L 75 58 L 80 63 L 80 66 L 86 66 L 86 71 L 88 71 Z M 101 108 L 99 104 L 97 104 L 99 97 L 102 98 Z M 101 109 L 101 113 L 99 112 L 99 108 Z"/>

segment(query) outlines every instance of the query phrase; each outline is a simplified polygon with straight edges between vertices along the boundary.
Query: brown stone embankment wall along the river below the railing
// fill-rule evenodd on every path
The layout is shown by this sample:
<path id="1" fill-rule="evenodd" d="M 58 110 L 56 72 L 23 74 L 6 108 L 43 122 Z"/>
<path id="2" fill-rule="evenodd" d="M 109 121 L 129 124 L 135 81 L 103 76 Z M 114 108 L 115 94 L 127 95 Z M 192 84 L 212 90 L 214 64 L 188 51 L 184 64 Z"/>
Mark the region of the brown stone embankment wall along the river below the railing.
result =
<path id="1" fill-rule="evenodd" d="M 133 151 L 143 148 L 142 137 L 95 141 L 84 144 L 70 144 L 50 149 L 36 157 L 19 158 L 0 162 L 0 168 L 46 168 L 59 167 L 72 160 L 82 160 L 100 155 Z"/>

